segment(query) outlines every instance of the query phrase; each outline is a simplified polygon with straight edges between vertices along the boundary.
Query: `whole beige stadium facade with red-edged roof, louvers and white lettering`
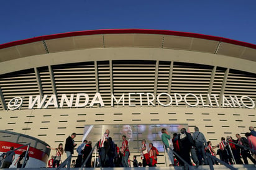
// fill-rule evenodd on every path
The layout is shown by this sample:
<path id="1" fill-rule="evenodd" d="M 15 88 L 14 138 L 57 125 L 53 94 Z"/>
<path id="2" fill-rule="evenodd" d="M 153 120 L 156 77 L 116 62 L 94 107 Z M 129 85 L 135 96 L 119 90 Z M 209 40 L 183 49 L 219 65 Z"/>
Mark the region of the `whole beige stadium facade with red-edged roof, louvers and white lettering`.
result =
<path id="1" fill-rule="evenodd" d="M 0 45 L 0 128 L 65 143 L 85 125 L 186 124 L 213 145 L 255 127 L 256 45 L 90 30 Z M 139 140 L 139 139 L 138 139 Z"/>

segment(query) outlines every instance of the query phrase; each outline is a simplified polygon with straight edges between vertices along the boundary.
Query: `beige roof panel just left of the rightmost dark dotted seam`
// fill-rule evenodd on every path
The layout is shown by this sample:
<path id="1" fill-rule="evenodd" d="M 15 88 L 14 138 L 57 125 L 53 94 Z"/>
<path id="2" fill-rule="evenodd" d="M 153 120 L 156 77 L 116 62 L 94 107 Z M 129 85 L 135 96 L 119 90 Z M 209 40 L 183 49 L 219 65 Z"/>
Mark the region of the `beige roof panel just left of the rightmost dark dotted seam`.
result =
<path id="1" fill-rule="evenodd" d="M 193 51 L 204 51 L 206 53 L 214 53 L 216 51 L 219 42 L 212 40 L 204 40 L 199 38 L 193 38 L 191 50 Z"/>

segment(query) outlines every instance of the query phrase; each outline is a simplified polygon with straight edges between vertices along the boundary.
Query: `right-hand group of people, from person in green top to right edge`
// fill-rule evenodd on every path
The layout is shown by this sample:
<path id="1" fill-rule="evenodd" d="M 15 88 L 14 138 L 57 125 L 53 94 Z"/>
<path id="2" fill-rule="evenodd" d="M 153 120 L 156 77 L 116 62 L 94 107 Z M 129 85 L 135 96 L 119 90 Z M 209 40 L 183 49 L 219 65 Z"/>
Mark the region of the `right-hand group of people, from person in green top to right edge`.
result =
<path id="1" fill-rule="evenodd" d="M 237 133 L 235 135 L 237 140 L 231 136 L 227 136 L 227 139 L 221 137 L 221 141 L 212 146 L 211 141 L 206 141 L 198 127 L 194 127 L 193 135 L 182 128 L 179 134 L 173 134 L 172 139 L 167 130 L 163 128 L 162 141 L 170 159 L 170 166 L 183 166 L 184 161 L 193 165 L 191 159 L 196 166 L 209 164 L 208 160 L 212 164 L 218 164 L 216 159 L 211 156 L 207 159 L 206 153 L 212 156 L 219 154 L 221 161 L 227 164 L 249 164 L 247 158 L 256 164 L 256 132 L 254 127 L 249 127 L 249 130 L 250 132 L 245 133 L 246 138 Z M 214 151 L 215 148 L 217 148 L 217 152 Z M 176 154 L 173 154 L 173 151 Z M 176 161 L 173 156 L 176 157 Z"/>

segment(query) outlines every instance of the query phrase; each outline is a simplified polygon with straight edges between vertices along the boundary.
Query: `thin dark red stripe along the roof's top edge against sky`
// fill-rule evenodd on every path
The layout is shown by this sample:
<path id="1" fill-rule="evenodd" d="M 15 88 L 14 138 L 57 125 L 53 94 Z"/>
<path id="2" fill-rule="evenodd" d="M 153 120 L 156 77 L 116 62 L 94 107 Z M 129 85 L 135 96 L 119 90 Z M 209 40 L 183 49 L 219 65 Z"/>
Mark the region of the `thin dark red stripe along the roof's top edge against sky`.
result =
<path id="1" fill-rule="evenodd" d="M 53 35 L 43 35 L 40 37 L 28 38 L 25 40 L 18 40 L 15 42 L 3 43 L 0 45 L 0 49 L 13 47 L 16 45 L 22 45 L 26 43 L 39 42 L 42 40 L 52 40 L 55 38 L 65 38 L 81 35 L 97 35 L 97 34 L 161 34 L 161 35 L 176 35 L 181 37 L 191 37 L 191 38 L 202 38 L 206 40 L 214 40 L 217 42 L 226 42 L 232 43 L 234 45 L 240 45 L 243 47 L 249 47 L 256 49 L 256 45 L 252 43 L 240 42 L 237 40 L 231 40 L 229 38 L 216 37 L 212 35 L 203 35 L 189 32 L 177 32 L 170 30 L 147 30 L 147 29 L 106 29 L 106 30 L 84 30 L 78 32 L 66 32 L 62 34 L 53 34 Z"/>

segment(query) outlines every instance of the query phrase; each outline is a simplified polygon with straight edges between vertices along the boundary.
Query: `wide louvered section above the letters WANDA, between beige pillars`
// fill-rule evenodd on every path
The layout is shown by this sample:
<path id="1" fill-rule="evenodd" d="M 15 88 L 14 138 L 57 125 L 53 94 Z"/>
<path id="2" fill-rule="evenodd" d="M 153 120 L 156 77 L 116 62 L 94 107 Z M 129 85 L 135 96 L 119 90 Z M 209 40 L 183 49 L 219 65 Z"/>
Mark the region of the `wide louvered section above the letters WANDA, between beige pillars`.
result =
<path id="1" fill-rule="evenodd" d="M 93 99 L 96 93 L 94 62 L 57 65 L 52 68 L 59 102 L 62 94 L 68 97 L 75 94 L 74 101 L 77 93 L 88 94 L 89 101 Z M 85 102 L 85 99 L 82 97 L 80 102 Z M 89 107 L 89 104 L 86 107 Z"/>

